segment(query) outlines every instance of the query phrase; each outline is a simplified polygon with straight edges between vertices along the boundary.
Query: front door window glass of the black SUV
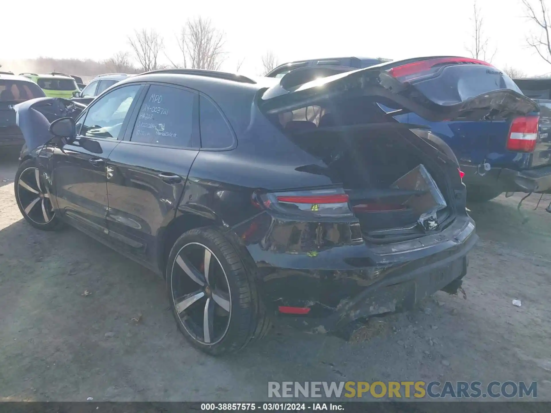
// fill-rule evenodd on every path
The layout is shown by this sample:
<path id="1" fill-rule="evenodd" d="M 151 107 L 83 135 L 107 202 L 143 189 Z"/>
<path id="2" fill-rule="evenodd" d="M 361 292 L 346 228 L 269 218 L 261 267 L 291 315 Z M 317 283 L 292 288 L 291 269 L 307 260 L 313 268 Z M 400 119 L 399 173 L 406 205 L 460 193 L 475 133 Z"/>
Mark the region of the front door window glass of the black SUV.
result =
<path id="1" fill-rule="evenodd" d="M 90 106 L 80 135 L 118 139 L 122 123 L 140 88 L 141 85 L 123 86 L 101 96 Z"/>

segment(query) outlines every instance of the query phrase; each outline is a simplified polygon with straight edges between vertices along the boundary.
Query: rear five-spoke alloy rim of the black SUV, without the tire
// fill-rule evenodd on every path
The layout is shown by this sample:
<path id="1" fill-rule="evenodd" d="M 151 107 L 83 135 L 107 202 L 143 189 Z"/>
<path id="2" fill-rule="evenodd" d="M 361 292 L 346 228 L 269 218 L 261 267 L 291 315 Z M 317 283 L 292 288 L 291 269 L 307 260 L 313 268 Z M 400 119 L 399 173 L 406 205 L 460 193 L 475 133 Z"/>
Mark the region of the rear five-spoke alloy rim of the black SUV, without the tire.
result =
<path id="1" fill-rule="evenodd" d="M 201 344 L 219 343 L 230 325 L 231 294 L 215 254 L 201 243 L 186 244 L 176 254 L 170 284 L 183 328 Z"/>

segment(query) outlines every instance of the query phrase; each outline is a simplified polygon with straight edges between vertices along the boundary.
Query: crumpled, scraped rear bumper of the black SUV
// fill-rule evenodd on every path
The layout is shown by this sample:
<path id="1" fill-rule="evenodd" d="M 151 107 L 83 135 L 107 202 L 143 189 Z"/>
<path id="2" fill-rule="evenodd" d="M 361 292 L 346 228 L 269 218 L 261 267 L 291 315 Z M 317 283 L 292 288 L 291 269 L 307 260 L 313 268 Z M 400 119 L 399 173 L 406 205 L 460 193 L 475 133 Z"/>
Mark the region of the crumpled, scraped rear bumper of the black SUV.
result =
<path id="1" fill-rule="evenodd" d="M 478 240 L 473 220 L 461 214 L 444 230 L 411 241 L 343 242 L 312 252 L 291 251 L 283 231 L 279 241 L 270 236 L 282 225 L 287 229 L 291 224 L 274 219 L 260 242 L 245 243 L 256 263 L 258 292 L 273 313 L 279 306 L 309 308 L 305 316 L 281 317 L 318 331 L 413 307 L 466 274 L 467 253 Z M 285 234 L 299 240 L 293 232 Z M 456 282 L 455 290 L 460 285 Z"/>

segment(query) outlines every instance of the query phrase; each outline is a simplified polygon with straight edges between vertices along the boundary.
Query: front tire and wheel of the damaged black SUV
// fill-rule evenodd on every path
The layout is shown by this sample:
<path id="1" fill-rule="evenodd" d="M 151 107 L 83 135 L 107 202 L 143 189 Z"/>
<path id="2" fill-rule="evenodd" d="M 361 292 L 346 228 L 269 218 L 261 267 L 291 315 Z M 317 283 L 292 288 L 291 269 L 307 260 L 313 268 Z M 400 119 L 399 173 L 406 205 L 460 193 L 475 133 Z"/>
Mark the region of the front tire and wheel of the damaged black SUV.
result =
<path id="1" fill-rule="evenodd" d="M 43 231 L 56 231 L 63 227 L 63 222 L 53 211 L 44 176 L 34 159 L 19 165 L 15 173 L 14 192 L 19 211 L 29 224 Z"/>

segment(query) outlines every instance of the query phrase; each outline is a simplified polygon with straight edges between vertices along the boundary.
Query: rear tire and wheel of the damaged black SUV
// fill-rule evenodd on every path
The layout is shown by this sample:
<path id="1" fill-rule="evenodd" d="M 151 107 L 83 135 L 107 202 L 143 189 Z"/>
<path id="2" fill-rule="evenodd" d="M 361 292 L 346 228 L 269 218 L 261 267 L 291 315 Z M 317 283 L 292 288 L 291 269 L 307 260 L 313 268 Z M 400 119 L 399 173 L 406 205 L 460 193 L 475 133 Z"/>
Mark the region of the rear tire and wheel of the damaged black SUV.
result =
<path id="1" fill-rule="evenodd" d="M 201 269 L 200 260 L 202 259 L 201 251 L 206 256 L 207 250 L 211 255 L 208 258 L 209 268 L 205 271 L 206 265 L 204 264 L 207 261 L 204 261 Z M 182 258 L 186 259 L 183 266 Z M 199 265 L 197 265 L 198 262 Z M 195 277 L 187 278 L 190 264 L 192 273 L 197 270 L 199 271 L 198 274 L 195 273 L 197 277 L 203 276 L 203 279 L 198 281 L 203 282 L 206 278 L 206 284 L 197 284 Z M 223 271 L 220 271 L 218 267 Z M 210 271 L 214 271 L 214 273 L 209 275 Z M 215 280 L 209 281 L 209 278 L 213 277 Z M 176 240 L 166 265 L 166 282 L 170 307 L 180 332 L 193 346 L 207 354 L 222 355 L 239 351 L 252 340 L 264 336 L 271 327 L 271 321 L 257 294 L 254 269 L 247 268 L 233 244 L 216 229 L 209 227 L 193 229 L 183 233 Z M 196 284 L 193 284 L 194 282 Z M 198 289 L 199 294 L 197 291 L 190 291 L 195 288 Z M 203 291 L 203 296 L 195 298 L 201 295 L 201 291 Z M 222 294 L 229 297 L 229 311 L 227 307 L 218 305 L 215 298 L 215 295 L 218 294 L 217 291 L 224 291 Z M 192 295 L 193 297 L 191 297 Z M 190 300 L 189 297 L 193 298 L 191 304 L 187 304 Z M 214 321 L 210 322 L 210 325 L 213 326 L 212 333 L 208 333 L 205 324 L 209 305 L 207 300 L 211 297 L 211 304 L 219 312 L 216 313 L 213 310 L 212 319 Z M 179 306 L 180 312 L 176 309 L 177 306 Z M 225 311 L 229 313 L 226 316 L 228 324 L 225 332 L 220 336 L 220 332 L 223 330 Z M 204 318 L 201 323 L 201 320 L 198 319 L 202 317 L 202 313 Z M 215 323 L 218 333 L 214 328 Z M 212 340 L 210 340 L 210 335 L 213 336 Z"/>

